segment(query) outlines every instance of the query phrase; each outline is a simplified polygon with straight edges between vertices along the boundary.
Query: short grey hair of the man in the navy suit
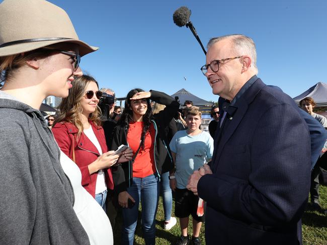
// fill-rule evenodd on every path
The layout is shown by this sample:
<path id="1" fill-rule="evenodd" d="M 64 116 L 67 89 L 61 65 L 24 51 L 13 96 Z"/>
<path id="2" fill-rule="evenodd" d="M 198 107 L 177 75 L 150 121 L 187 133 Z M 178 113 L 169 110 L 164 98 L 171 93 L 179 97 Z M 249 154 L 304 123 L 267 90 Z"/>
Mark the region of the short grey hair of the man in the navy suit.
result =
<path id="1" fill-rule="evenodd" d="M 241 34 L 214 37 L 209 40 L 207 44 L 207 49 L 209 49 L 216 42 L 219 42 L 227 38 L 232 40 L 234 44 L 234 52 L 236 56 L 249 55 L 251 57 L 252 66 L 258 73 L 256 45 L 250 37 Z M 223 58 L 229 58 L 229 57 L 223 57 Z"/>

